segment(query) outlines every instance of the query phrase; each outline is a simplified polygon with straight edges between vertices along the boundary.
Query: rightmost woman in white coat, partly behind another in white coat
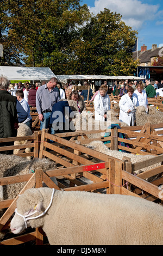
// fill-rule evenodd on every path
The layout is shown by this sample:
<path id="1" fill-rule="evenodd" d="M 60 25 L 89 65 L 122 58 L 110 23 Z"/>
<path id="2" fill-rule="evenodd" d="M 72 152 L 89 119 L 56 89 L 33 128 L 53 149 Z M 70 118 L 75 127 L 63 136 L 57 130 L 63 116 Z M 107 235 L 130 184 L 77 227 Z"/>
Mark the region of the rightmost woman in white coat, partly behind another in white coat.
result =
<path id="1" fill-rule="evenodd" d="M 137 84 L 136 90 L 133 93 L 133 96 L 137 97 L 137 106 L 144 106 L 145 108 L 148 108 L 147 94 L 146 94 L 146 91 L 143 90 L 142 83 Z"/>

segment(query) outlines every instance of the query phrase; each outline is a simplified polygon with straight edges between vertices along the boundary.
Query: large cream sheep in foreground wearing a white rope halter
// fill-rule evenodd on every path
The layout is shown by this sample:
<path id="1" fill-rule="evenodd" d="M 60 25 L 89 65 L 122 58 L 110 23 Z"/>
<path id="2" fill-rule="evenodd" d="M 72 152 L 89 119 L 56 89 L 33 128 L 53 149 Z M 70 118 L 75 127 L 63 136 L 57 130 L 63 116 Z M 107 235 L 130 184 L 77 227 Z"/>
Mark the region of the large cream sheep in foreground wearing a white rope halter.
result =
<path id="1" fill-rule="evenodd" d="M 10 228 L 30 226 L 42 227 L 50 245 L 162 245 L 163 208 L 120 194 L 32 188 L 17 199 Z"/>

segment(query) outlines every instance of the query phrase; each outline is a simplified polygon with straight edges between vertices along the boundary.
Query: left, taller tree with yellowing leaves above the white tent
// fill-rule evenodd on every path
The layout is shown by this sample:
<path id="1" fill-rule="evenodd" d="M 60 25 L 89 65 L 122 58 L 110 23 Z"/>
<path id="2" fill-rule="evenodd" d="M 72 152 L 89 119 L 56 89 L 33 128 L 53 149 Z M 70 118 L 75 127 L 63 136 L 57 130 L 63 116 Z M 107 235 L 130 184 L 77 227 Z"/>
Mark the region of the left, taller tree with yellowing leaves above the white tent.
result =
<path id="1" fill-rule="evenodd" d="M 67 62 L 78 26 L 90 15 L 79 0 L 6 0 L 3 10 L 2 22 L 8 28 L 5 47 L 12 42 L 26 65 L 48 65 L 57 74 L 64 68 L 60 63 Z"/>

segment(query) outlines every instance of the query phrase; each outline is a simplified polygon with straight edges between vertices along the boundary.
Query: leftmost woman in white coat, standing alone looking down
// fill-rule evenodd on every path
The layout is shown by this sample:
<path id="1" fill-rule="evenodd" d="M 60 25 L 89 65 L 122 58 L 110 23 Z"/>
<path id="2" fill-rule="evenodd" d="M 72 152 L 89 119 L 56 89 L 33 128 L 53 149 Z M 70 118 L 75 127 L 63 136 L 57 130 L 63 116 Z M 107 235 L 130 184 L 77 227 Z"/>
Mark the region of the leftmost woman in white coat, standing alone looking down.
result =
<path id="1" fill-rule="evenodd" d="M 106 113 L 110 110 L 110 99 L 107 92 L 108 87 L 102 84 L 99 88 L 98 94 L 95 96 L 95 120 L 106 121 Z"/>

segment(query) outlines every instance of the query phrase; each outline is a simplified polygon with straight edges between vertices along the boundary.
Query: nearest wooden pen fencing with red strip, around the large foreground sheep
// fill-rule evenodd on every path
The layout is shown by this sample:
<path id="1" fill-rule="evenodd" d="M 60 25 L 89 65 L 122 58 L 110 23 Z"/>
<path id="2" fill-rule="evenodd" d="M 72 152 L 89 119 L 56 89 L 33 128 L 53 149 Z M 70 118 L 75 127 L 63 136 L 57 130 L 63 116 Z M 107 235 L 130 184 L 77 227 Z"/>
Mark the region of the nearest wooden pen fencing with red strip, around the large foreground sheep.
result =
<path id="1" fill-rule="evenodd" d="M 74 134 L 71 141 L 59 136 L 59 133 L 57 135 L 50 135 L 47 130 L 42 130 L 39 143 L 40 159 L 42 157 L 48 157 L 55 161 L 57 166 L 54 170 L 48 170 L 46 172 L 36 170 L 33 174 L 0 178 L 0 185 L 27 181 L 27 184 L 20 192 L 22 194 L 28 188 L 34 186 L 42 187 L 42 182 L 45 182 L 48 187 L 54 187 L 58 190 L 127 194 L 154 202 L 159 200 L 159 203 L 162 204 L 162 189 L 160 188 L 163 181 L 162 154 L 150 160 L 133 164 L 128 157 L 118 160 L 115 157 L 110 157 L 96 150 L 84 147 L 81 142 L 79 143 L 81 137 L 84 138 L 83 141 L 86 139 L 84 131 L 80 131 L 76 135 Z M 106 137 L 106 139 L 108 138 Z M 50 143 L 49 140 L 52 140 L 53 143 Z M 34 147 L 37 145 L 35 143 L 33 144 Z M 34 154 L 35 156 L 36 154 Z M 96 157 L 96 159 L 99 159 L 99 162 L 92 162 L 90 156 Z M 153 164 L 158 163 L 158 167 L 153 167 Z M 135 171 L 145 167 L 148 167 L 147 172 L 134 175 Z M 152 183 L 146 180 L 154 175 L 157 175 L 157 178 Z M 58 186 L 50 179 L 53 176 L 57 178 Z M 0 202 L 0 209 L 7 209 L 0 220 L 1 231 L 9 228 L 10 217 L 15 211 L 17 198 L 18 195 L 14 199 Z M 36 228 L 34 230 L 27 230 L 23 235 L 12 235 L 9 239 L 5 238 L 0 244 L 20 245 L 24 242 L 27 243 L 35 240 L 36 245 L 42 245 L 46 243 L 45 238 L 46 236 L 42 229 Z"/>

